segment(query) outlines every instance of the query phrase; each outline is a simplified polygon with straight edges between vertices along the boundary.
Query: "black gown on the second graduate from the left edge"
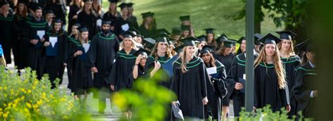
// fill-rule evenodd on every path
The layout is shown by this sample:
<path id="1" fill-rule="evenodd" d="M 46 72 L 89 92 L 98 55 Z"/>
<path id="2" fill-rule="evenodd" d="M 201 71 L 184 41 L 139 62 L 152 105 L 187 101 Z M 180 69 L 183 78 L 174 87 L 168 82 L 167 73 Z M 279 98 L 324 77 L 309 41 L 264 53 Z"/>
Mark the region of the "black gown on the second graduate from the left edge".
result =
<path id="1" fill-rule="evenodd" d="M 26 53 L 27 53 L 27 23 L 26 18 L 15 15 L 14 30 L 13 30 L 13 56 L 15 66 L 18 69 L 27 67 L 26 64 Z"/>

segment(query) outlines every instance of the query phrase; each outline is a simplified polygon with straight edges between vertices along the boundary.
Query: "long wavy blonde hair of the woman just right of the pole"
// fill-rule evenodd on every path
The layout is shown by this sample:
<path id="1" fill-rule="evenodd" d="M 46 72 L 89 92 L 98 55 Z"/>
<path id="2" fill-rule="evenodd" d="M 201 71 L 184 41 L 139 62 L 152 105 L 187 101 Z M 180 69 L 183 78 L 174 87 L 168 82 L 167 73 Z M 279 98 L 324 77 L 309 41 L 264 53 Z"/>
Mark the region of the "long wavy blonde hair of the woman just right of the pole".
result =
<path id="1" fill-rule="evenodd" d="M 275 47 L 277 47 L 275 45 Z M 254 67 L 256 68 L 259 63 L 263 62 L 264 65 L 266 65 L 266 45 L 263 46 L 263 49 L 261 49 L 258 58 L 254 61 Z M 275 73 L 278 76 L 278 84 L 280 89 L 284 89 L 287 85 L 287 82 L 285 80 L 285 70 L 282 66 L 281 58 L 280 58 L 280 52 L 278 49 L 275 49 L 275 54 L 273 56 L 273 64 L 274 64 L 274 69 Z M 267 72 L 267 70 L 266 70 Z"/>

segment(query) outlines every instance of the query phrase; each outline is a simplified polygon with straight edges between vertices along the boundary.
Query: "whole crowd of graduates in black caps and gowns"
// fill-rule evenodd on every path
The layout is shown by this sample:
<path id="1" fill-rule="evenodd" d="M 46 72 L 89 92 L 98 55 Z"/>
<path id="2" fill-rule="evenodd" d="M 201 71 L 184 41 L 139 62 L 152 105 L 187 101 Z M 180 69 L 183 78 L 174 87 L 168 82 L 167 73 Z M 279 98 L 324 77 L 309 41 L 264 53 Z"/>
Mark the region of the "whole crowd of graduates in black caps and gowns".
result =
<path id="1" fill-rule="evenodd" d="M 244 37 L 216 37 L 214 28 L 196 36 L 190 15 L 181 16 L 171 33 L 157 29 L 152 12 L 142 13 L 138 25 L 133 3 L 109 1 L 106 13 L 97 0 L 1 1 L 2 65 L 12 63 L 13 52 L 19 74 L 28 67 L 39 79 L 48 74 L 52 88 L 55 79 L 62 83 L 67 68 L 74 98 L 97 90 L 93 97 L 100 113 L 113 91 L 131 89 L 138 78 L 161 76 L 159 84 L 176 94 L 171 104 L 179 105 L 185 117 L 226 118 L 230 100 L 235 117 L 240 116 L 246 83 Z M 318 96 L 312 86 L 317 76 L 312 39 L 294 45 L 294 32 L 277 34 L 254 34 L 254 110 L 270 105 L 273 111 L 285 108 L 290 117 L 299 111 L 311 117 Z"/>

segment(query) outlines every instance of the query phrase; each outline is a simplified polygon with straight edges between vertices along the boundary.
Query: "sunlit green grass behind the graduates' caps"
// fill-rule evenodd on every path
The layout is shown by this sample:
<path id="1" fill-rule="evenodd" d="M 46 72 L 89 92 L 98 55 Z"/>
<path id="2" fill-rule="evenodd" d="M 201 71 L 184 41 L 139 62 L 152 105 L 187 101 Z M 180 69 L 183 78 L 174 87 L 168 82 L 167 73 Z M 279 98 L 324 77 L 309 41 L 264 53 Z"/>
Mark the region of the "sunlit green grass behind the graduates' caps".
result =
<path id="1" fill-rule="evenodd" d="M 106 12 L 109 3 L 103 0 L 103 10 Z M 204 28 L 213 27 L 218 34 L 226 33 L 229 38 L 238 39 L 245 34 L 245 21 L 226 19 L 226 15 L 234 15 L 244 4 L 240 0 L 127 0 L 134 3 L 134 15 L 141 25 L 141 13 L 155 13 L 157 28 L 166 28 L 171 32 L 172 27 L 179 26 L 179 16 L 190 15 L 195 35 L 204 34 Z M 119 9 L 119 8 L 118 8 Z M 120 10 L 119 10 L 120 11 Z M 261 33 L 283 30 L 275 27 L 273 20 L 266 17 L 261 23 Z"/>

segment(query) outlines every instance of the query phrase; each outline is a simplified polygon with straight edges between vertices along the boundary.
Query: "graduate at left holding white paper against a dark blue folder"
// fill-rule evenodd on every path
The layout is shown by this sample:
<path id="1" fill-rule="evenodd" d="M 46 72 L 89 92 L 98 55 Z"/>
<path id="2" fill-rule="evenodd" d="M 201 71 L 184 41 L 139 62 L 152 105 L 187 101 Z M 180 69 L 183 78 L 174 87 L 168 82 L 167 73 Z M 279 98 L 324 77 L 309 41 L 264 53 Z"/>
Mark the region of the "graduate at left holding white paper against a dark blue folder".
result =
<path id="1" fill-rule="evenodd" d="M 45 62 L 47 63 L 44 74 L 48 74 L 50 77 L 51 88 L 55 88 L 55 78 L 60 79 L 59 85 L 62 84 L 67 63 L 67 33 L 63 30 L 62 23 L 60 18 L 55 18 L 52 30 L 46 32 L 44 37 L 44 56 L 46 56 Z"/>

